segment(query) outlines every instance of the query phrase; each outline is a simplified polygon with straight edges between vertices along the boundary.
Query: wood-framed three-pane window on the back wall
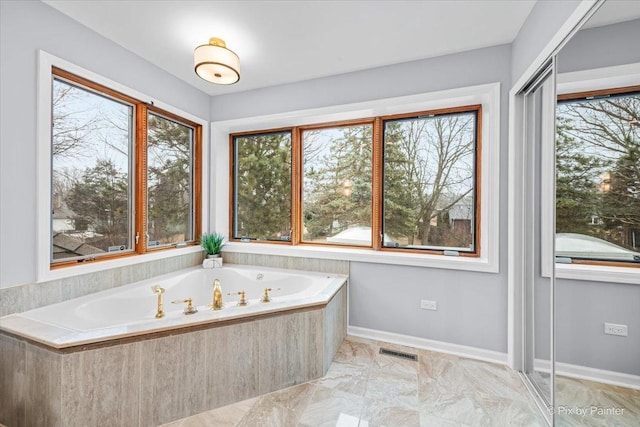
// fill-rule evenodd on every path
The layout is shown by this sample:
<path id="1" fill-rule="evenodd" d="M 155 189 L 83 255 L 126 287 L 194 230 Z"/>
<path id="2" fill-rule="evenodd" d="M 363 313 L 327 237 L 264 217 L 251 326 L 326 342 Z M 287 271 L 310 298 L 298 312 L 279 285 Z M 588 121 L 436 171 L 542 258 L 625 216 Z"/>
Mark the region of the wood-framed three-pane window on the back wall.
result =
<path id="1" fill-rule="evenodd" d="M 480 105 L 232 134 L 234 239 L 479 255 Z"/>

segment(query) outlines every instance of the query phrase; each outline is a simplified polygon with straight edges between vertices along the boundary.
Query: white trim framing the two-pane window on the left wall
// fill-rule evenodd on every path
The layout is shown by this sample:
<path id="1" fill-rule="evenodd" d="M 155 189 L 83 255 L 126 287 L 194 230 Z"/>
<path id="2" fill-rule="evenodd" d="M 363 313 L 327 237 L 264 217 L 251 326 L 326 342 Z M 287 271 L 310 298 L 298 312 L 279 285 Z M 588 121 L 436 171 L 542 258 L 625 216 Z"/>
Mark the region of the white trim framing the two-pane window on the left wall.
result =
<path id="1" fill-rule="evenodd" d="M 70 73 L 76 74 L 95 83 L 121 92 L 132 98 L 149 100 L 158 108 L 184 117 L 202 126 L 202 230 L 206 230 L 206 218 L 209 217 L 209 158 L 208 144 L 209 129 L 207 120 L 196 117 L 162 101 L 145 95 L 135 89 L 131 89 L 85 68 L 79 67 L 64 59 L 58 58 L 45 51 L 38 51 L 38 84 L 37 84 L 37 169 L 36 169 L 36 194 L 37 194 L 37 229 L 36 229 L 36 259 L 37 282 L 61 279 L 77 276 L 79 274 L 93 273 L 111 268 L 124 267 L 142 262 L 171 258 L 179 255 L 202 251 L 197 247 L 177 248 L 167 251 L 150 252 L 130 257 L 117 258 L 99 262 L 86 263 L 78 266 L 51 269 L 50 245 L 51 245 L 51 67 L 58 67 Z"/>

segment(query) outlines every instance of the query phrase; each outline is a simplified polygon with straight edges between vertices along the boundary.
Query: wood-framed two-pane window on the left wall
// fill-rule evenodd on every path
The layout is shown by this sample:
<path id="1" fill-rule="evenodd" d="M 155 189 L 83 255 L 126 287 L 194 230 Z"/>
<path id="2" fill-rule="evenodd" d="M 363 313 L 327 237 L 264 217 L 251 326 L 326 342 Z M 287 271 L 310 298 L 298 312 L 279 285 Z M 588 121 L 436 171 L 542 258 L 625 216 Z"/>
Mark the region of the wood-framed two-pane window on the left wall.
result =
<path id="1" fill-rule="evenodd" d="M 58 68 L 52 266 L 195 243 L 201 126 Z"/>

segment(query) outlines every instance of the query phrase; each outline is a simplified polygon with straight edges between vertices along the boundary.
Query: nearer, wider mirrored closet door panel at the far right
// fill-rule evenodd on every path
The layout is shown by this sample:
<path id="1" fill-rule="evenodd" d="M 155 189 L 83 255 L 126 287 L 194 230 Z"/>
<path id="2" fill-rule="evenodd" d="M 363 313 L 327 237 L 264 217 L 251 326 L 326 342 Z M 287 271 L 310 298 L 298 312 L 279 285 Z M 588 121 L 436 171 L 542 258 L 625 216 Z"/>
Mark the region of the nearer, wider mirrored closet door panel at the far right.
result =
<path id="1" fill-rule="evenodd" d="M 637 425 L 640 2 L 596 7 L 556 56 L 555 418 Z"/>

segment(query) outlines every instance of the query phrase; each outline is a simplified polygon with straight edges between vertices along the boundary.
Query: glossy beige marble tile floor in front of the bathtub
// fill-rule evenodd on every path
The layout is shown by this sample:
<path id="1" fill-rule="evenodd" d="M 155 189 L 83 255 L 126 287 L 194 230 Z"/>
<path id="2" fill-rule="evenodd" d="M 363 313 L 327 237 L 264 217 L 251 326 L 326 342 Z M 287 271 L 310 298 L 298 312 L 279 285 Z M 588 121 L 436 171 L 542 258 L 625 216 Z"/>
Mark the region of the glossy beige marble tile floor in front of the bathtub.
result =
<path id="1" fill-rule="evenodd" d="M 417 354 L 418 361 L 379 354 L 381 346 Z M 606 387 L 603 397 L 610 402 L 631 405 L 615 394 L 626 389 Z M 566 396 L 589 401 L 589 393 L 598 394 L 590 390 L 585 382 L 572 383 L 566 387 Z M 616 418 L 620 424 L 608 425 L 638 426 L 633 424 L 633 420 L 638 420 L 633 418 L 638 413 L 637 405 L 636 398 L 636 412 L 629 410 L 629 418 Z M 589 418 L 579 420 L 587 424 L 573 424 L 577 421 L 574 418 L 566 418 L 565 425 L 590 425 Z M 628 421 L 632 424 L 624 424 Z M 347 337 L 327 375 L 320 379 L 203 412 L 164 427 L 546 425 L 518 374 L 505 366 Z"/>

